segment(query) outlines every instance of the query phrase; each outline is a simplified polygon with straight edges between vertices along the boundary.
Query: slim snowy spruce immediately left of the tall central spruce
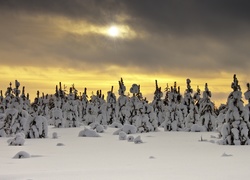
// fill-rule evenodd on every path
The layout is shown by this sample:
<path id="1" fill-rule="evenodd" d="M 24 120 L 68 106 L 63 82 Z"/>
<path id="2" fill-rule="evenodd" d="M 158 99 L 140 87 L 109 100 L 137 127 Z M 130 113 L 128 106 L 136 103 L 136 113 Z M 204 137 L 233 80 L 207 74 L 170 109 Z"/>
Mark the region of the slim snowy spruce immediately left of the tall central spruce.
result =
<path id="1" fill-rule="evenodd" d="M 112 124 L 116 121 L 116 96 L 113 93 L 113 86 L 111 87 L 111 91 L 108 91 L 107 96 L 107 123 Z"/>

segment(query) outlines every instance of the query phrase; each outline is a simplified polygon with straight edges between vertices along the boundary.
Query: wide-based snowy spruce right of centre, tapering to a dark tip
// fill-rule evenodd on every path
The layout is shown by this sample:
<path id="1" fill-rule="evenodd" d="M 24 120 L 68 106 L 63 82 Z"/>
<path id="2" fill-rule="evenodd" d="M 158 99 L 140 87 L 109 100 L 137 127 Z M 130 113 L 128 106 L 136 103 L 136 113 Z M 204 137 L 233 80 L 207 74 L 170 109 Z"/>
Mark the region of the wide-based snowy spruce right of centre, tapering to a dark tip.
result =
<path id="1" fill-rule="evenodd" d="M 177 89 L 176 86 L 176 82 L 174 82 L 174 87 L 171 87 L 168 93 L 169 105 L 167 106 L 165 121 L 161 125 L 165 131 L 179 131 L 183 128 L 183 115 L 179 109 L 182 97 L 180 87 Z"/>

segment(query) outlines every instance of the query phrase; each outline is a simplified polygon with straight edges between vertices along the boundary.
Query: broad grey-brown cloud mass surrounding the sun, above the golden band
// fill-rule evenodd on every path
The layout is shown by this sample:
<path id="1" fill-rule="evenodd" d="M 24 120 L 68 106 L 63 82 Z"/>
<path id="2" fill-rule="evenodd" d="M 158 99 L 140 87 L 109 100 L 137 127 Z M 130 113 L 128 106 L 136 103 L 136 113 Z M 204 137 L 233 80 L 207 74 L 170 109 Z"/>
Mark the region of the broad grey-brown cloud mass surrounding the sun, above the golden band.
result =
<path id="1" fill-rule="evenodd" d="M 18 51 L 23 48 L 23 59 L 50 57 L 75 68 L 91 62 L 91 67 L 116 64 L 185 75 L 248 71 L 249 5 L 241 0 L 5 0 L 0 1 L 0 13 L 5 15 L 0 38 L 7 43 L 0 46 Z M 44 28 L 32 21 L 22 28 L 24 22 L 15 19 L 16 13 L 62 16 L 96 25 L 126 23 L 142 38 L 113 43 L 103 35 L 68 33 L 58 40 L 50 36 L 56 32 L 50 32 L 49 25 Z M 118 18 L 125 15 L 128 18 Z M 29 44 L 23 44 L 24 40 Z"/>

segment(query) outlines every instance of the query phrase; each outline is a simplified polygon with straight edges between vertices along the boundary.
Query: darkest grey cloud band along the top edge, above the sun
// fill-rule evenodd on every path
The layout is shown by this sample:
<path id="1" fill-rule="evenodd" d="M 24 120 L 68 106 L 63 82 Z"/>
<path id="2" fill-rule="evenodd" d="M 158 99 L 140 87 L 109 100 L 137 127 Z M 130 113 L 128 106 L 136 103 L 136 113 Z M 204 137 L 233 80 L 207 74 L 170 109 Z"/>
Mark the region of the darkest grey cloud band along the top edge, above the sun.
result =
<path id="1" fill-rule="evenodd" d="M 180 35 L 204 32 L 223 35 L 244 31 L 243 25 L 249 25 L 249 7 L 250 2 L 245 0 L 0 1 L 2 10 L 62 15 L 91 22 L 110 20 L 114 15 L 124 13 L 131 17 L 129 22 L 133 26 L 143 26 L 155 34 L 168 30 Z"/>

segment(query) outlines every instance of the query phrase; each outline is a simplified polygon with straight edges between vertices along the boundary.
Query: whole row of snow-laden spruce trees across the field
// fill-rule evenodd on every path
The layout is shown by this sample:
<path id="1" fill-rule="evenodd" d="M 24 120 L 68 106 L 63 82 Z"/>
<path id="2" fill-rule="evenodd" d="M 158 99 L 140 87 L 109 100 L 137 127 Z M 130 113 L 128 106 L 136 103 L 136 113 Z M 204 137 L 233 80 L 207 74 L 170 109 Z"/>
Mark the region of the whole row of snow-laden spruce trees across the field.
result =
<path id="1" fill-rule="evenodd" d="M 175 82 L 165 88 L 165 97 L 161 87 L 155 82 L 154 99 L 151 103 L 143 98 L 140 85 L 133 84 L 129 90 L 131 97 L 125 95 L 123 79 L 119 81 L 119 97 L 116 98 L 113 87 L 107 93 L 106 100 L 101 90 L 88 98 L 87 89 L 78 95 L 72 85 L 69 93 L 56 86 L 54 95 L 40 96 L 39 91 L 34 102 L 25 95 L 25 88 L 19 90 L 20 83 L 15 81 L 0 96 L 0 136 L 11 136 L 22 132 L 26 138 L 44 138 L 48 125 L 56 128 L 79 127 L 81 125 L 102 125 L 122 127 L 132 125 L 137 132 L 157 131 L 219 131 L 221 144 L 247 144 L 249 140 L 249 102 L 244 107 L 242 93 L 236 75 L 226 105 L 215 109 L 211 101 L 212 93 L 205 84 L 203 93 L 197 87 L 193 92 L 191 80 L 186 81 L 187 88 L 182 96 Z M 250 85 L 245 98 L 250 101 Z"/>

